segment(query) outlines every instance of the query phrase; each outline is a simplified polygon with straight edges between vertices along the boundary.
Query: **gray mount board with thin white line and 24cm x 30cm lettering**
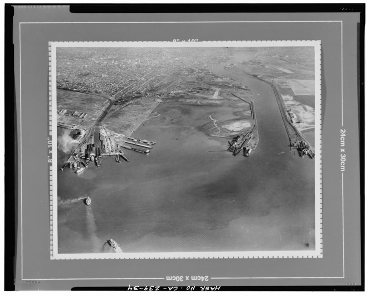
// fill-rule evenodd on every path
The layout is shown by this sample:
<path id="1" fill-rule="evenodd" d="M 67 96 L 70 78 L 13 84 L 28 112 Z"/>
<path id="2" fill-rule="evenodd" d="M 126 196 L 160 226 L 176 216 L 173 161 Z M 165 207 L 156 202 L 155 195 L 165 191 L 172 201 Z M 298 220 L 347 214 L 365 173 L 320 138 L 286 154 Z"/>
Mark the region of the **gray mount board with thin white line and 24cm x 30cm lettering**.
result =
<path id="1" fill-rule="evenodd" d="M 68 6 L 15 7 L 17 136 L 22 143 L 18 148 L 16 289 L 361 284 L 358 22 L 358 13 L 76 15 Z M 50 260 L 48 42 L 175 38 L 321 40 L 323 258 Z M 341 129 L 346 130 L 343 174 Z M 165 280 L 172 275 L 204 275 L 209 281 Z"/>

